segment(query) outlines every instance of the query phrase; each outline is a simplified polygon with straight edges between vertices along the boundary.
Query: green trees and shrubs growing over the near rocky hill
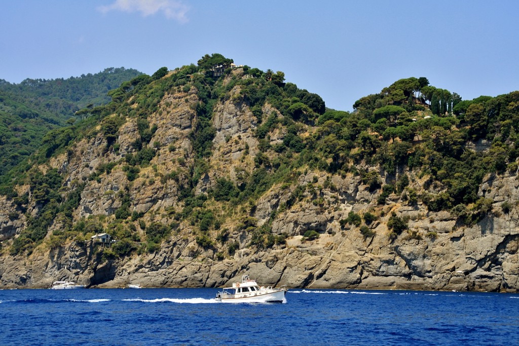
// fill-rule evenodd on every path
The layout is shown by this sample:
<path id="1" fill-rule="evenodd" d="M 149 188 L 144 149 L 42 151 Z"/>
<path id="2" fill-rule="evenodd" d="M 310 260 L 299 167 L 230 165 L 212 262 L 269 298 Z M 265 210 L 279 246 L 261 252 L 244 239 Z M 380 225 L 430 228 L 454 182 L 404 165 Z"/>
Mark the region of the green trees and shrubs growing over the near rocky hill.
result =
<path id="1" fill-rule="evenodd" d="M 28 206 L 28 194 L 19 193 L 19 185 L 28 185 L 32 198 L 39 205 L 38 213 L 28 216 L 28 227 L 10 245 L 10 253 L 30 251 L 41 243 L 48 227 L 56 219 L 60 219 L 63 225 L 51 238 L 57 243 L 110 230 L 119 239 L 116 246 L 106 250 L 111 256 L 157 251 L 161 241 L 180 223 L 197 229 L 200 246 L 226 243 L 228 253 L 234 253 L 236 244 L 227 239 L 228 230 L 221 229 L 225 217 L 217 216 L 215 203 L 241 206 L 243 215 L 239 227 L 253 232 L 250 245 L 258 248 L 272 246 L 284 241 L 283 237 L 271 233 L 270 225 L 277 214 L 273 213 L 269 223 L 260 227 L 253 218 L 247 217 L 251 212 L 250 205 L 274 185 L 282 184 L 282 188 L 288 188 L 304 171 L 360 176 L 370 191 L 380 191 L 377 199 L 380 207 L 388 202 L 390 196 L 399 196 L 408 205 L 421 202 L 430 211 L 449 211 L 459 218 L 461 224 L 473 224 L 489 211 L 492 203 L 477 195 L 484 175 L 516 172 L 519 168 L 519 134 L 516 132 L 519 127 L 519 91 L 467 101 L 455 92 L 431 86 L 425 77 L 411 77 L 395 81 L 380 92 L 365 96 L 354 103 L 353 112 L 345 112 L 328 109 L 319 95 L 285 82 L 281 71 L 261 71 L 249 66 L 236 68 L 231 67 L 232 62 L 220 54 L 212 54 L 202 57 L 196 65 L 186 65 L 173 71 L 162 67 L 152 76 L 135 76 L 109 91 L 111 101 L 105 105 L 97 105 L 98 101 L 94 101 L 103 103 L 98 94 L 95 97 L 87 96 L 95 89 L 93 87 L 82 89 L 74 79 L 74 82 L 71 81 L 73 89 L 84 92 L 77 94 L 77 91 L 61 88 L 62 85 L 58 86 L 54 81 L 54 92 L 58 92 L 60 98 L 72 92 L 70 98 L 76 103 L 64 108 L 74 112 L 78 119 L 66 127 L 47 125 L 51 131 L 45 136 L 41 133 L 35 136 L 33 140 L 37 142 L 26 143 L 29 148 L 35 148 L 37 145 L 34 143 L 41 143 L 41 148 L 24 164 L 4 174 L 0 192 L 16 201 L 20 213 Z M 213 67 L 217 65 L 224 66 L 225 73 L 215 77 Z M 38 89 L 40 84 L 24 81 L 16 88 Z M 10 88 L 6 89 L 11 90 L 7 95 L 13 93 L 15 86 Z M 52 98 L 53 88 L 49 87 L 48 91 Z M 99 89 L 106 91 L 110 88 L 103 85 Z M 236 90 L 238 93 L 234 93 Z M 33 92 L 34 98 L 43 97 Z M 193 157 L 177 159 L 176 168 L 163 173 L 158 172 L 153 163 L 163 144 L 153 140 L 158 128 L 156 124 L 149 123 L 148 117 L 162 112 L 160 102 L 167 93 L 175 92 L 194 92 L 199 99 L 194 109 L 197 120 L 189 134 Z M 42 112 L 42 108 L 29 108 L 15 98 L 4 100 L 8 100 L 3 102 L 4 108 L 18 109 L 18 113 Z M 216 133 L 214 107 L 229 100 L 247 105 L 256 118 L 254 136 L 259 143 L 259 152 L 253 157 L 254 170 L 243 172 L 233 179 L 219 177 L 214 187 L 197 193 L 201 177 L 211 170 L 209 158 L 214 150 Z M 276 112 L 272 110 L 266 114 L 266 105 Z M 46 107 L 51 113 L 53 106 Z M 66 115 L 64 108 L 58 108 L 51 113 L 60 119 L 55 125 L 63 124 L 60 121 Z M 10 116 L 9 121 L 13 121 L 14 112 L 5 109 L 2 112 L 0 115 L 5 115 L 6 119 Z M 75 143 L 81 139 L 92 139 L 99 133 L 106 141 L 105 152 L 116 155 L 119 151 L 118 131 L 128 119 L 134 119 L 138 126 L 138 136 L 132 143 L 131 152 L 120 160 L 100 165 L 88 181 L 101 181 L 113 170 L 120 169 L 125 172 L 131 185 L 140 177 L 141 171 L 152 165 L 156 172 L 153 184 L 156 180 L 163 185 L 174 182 L 178 187 L 177 198 L 181 208 L 166 212 L 171 220 L 167 224 L 146 224 L 143 214 L 132 210 L 132 196 L 126 188 L 118 192 L 121 205 L 108 218 L 91 217 L 75 221 L 72 214 L 79 204 L 85 182 L 69 185 L 72 189 L 65 193 L 60 190 L 64 184 L 63 175 L 56 169 L 49 169 L 44 174 L 37 164 L 45 164 L 49 158 L 63 153 L 72 156 Z M 28 124 L 24 123 L 24 126 Z M 43 126 L 43 123 L 34 126 Z M 10 129 L 14 131 L 14 128 Z M 272 144 L 271 136 L 274 133 L 283 135 L 280 141 Z M 4 139 L 2 141 L 8 143 Z M 478 146 L 483 146 L 485 150 L 472 149 Z M 25 150 L 27 152 L 18 155 L 28 155 L 30 150 Z M 175 152 L 179 148 L 170 145 L 168 150 Z M 245 151 L 248 152 L 248 147 Z M 420 190 L 410 187 L 411 181 L 424 181 L 424 178 Z M 152 184 L 151 178 L 149 184 Z M 330 180 L 324 185 L 324 188 L 333 189 Z M 315 189 L 315 204 L 323 203 L 318 192 L 322 186 L 310 188 Z M 303 198 L 303 192 L 300 186 L 295 188 L 292 197 L 279 207 L 277 213 L 289 209 Z M 502 211 L 507 213 L 511 206 L 510 203 L 503 204 Z M 342 222 L 360 225 L 364 220 L 368 225 L 376 213 L 371 216 L 367 214 L 361 218 L 353 213 L 351 218 Z M 405 229 L 402 223 L 395 216 L 388 227 L 398 233 Z M 136 232 L 138 227 L 145 231 L 144 239 L 139 238 Z M 218 236 L 210 236 L 209 230 L 216 231 Z M 367 227 L 362 230 L 370 234 Z M 311 239 L 318 234 L 314 231 L 305 236 Z"/>

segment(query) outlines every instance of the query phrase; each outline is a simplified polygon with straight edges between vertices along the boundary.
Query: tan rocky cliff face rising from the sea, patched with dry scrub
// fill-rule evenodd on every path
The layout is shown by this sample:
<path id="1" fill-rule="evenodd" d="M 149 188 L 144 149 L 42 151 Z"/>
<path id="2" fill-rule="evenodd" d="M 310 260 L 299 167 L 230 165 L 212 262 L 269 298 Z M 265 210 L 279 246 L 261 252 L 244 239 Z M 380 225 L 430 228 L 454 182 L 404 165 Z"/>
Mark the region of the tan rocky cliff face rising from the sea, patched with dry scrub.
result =
<path id="1" fill-rule="evenodd" d="M 46 287 L 66 279 L 89 287 L 215 287 L 248 273 L 262 284 L 289 287 L 517 292 L 519 213 L 513 203 L 506 213 L 501 207 L 519 199 L 516 174 L 485 176 L 478 195 L 491 203 L 475 222 L 464 222 L 463 213 L 430 211 L 405 193 L 386 193 L 380 203 L 383 189 L 354 172 L 277 162 L 272 148 L 283 143 L 286 128 L 278 123 L 263 140 L 257 130 L 268 117 L 283 115 L 268 102 L 260 117 L 252 112 L 244 86 L 230 84 L 248 77 L 237 69 L 222 79 L 228 91 L 212 108 L 208 156 L 197 153 L 193 140 L 201 122 L 200 90 L 185 84 L 168 89 L 147 115 L 147 129 L 155 131 L 142 145 L 156 153 L 136 177 L 128 174 L 127 154 L 138 154 L 134 142 L 142 128 L 131 102 L 126 114 L 108 115 L 68 150 L 39 163 L 40 174 L 57 169 L 63 177 L 63 199 L 73 191 L 80 198 L 70 217 L 54 215 L 42 241 L 14 253 L 13 242 L 43 210 L 42 202 L 28 185 L 16 188 L 19 196 L 29 191 L 26 203 L 0 196 L 0 286 Z M 120 122 L 115 140 L 103 130 L 110 118 Z M 318 131 L 311 123 L 298 128 L 303 138 Z M 290 172 L 258 190 L 258 159 L 265 158 L 265 172 Z M 359 169 L 376 172 L 381 182 L 395 179 L 379 165 L 363 162 Z M 438 192 L 425 187 L 428 176 L 405 168 L 397 172 L 402 174 L 411 177 L 409 191 Z M 245 185 L 259 192 L 245 201 L 217 198 L 226 182 L 233 183 L 230 195 Z M 182 197 L 188 189 L 187 200 L 199 204 Z M 209 226 L 203 226 L 207 213 Z M 366 213 L 371 217 L 362 226 L 348 219 Z M 395 220 L 405 227 L 395 227 Z M 150 249 L 146 240 L 156 225 L 169 231 Z M 101 232 L 117 242 L 131 239 L 132 247 L 117 253 L 95 243 L 91 236 Z"/>

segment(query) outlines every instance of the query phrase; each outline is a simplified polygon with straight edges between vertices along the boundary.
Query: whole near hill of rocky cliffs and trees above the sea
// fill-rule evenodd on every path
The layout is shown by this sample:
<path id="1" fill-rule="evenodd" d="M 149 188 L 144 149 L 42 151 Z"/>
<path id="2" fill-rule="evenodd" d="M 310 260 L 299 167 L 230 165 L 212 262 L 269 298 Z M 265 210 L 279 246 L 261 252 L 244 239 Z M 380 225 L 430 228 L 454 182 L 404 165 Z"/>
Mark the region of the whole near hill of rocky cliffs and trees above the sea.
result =
<path id="1" fill-rule="evenodd" d="M 517 292 L 519 92 L 462 101 L 406 78 L 349 113 L 232 62 L 135 77 L 50 132 L 2 185 L 1 285 L 213 287 L 247 272 Z"/>

